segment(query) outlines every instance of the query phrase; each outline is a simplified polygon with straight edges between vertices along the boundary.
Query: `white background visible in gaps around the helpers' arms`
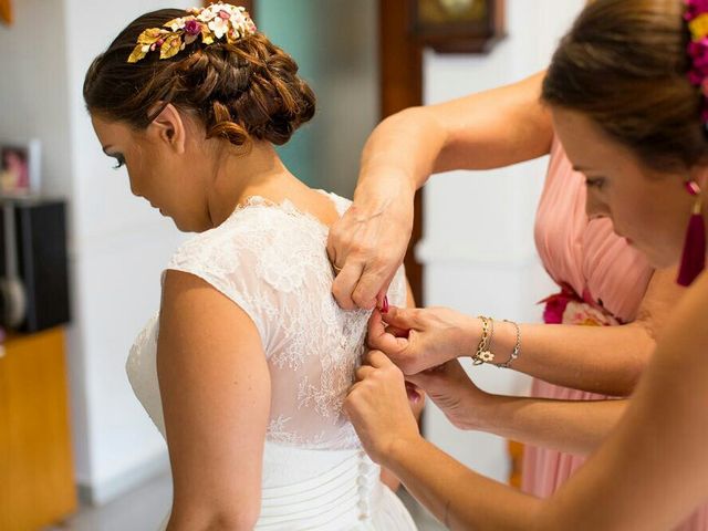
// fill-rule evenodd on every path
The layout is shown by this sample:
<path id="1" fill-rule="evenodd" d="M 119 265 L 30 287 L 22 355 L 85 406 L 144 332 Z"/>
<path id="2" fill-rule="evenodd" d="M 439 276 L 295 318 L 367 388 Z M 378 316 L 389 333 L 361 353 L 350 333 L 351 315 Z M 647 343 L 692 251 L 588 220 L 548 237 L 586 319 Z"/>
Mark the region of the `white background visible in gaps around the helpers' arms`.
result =
<path id="1" fill-rule="evenodd" d="M 425 55 L 425 102 L 436 103 L 521 80 L 542 70 L 583 0 L 508 0 L 508 34 L 489 55 Z M 514 124 L 509 124 L 513 127 Z M 533 244 L 533 217 L 548 160 L 472 175 L 454 171 L 425 189 L 424 240 L 428 305 L 472 315 L 540 321 L 535 304 L 552 293 Z M 523 352 L 523 351 L 522 351 Z M 528 379 L 497 367 L 470 372 L 485 389 L 520 393 Z M 476 470 L 506 480 L 506 442 L 461 433 L 430 407 L 426 434 Z"/>

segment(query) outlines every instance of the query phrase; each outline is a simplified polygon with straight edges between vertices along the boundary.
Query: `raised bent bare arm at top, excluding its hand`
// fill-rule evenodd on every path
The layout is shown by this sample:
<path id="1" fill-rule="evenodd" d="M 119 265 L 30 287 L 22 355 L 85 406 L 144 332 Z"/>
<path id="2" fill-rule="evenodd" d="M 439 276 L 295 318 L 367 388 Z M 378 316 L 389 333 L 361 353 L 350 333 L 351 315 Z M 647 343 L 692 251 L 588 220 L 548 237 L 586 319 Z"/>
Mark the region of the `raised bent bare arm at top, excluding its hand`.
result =
<path id="1" fill-rule="evenodd" d="M 384 175 L 415 190 L 435 173 L 497 168 L 549 153 L 553 129 L 540 104 L 542 79 L 389 116 L 364 147 L 357 194 L 375 189 Z"/>

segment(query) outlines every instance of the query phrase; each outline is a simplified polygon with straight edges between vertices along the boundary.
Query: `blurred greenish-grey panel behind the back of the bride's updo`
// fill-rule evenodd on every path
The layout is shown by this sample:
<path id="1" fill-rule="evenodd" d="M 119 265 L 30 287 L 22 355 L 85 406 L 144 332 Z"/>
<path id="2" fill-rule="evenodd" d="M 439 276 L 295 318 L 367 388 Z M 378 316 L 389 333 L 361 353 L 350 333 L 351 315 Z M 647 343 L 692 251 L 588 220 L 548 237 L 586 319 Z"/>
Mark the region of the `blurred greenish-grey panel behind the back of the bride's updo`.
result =
<path id="1" fill-rule="evenodd" d="M 317 100 L 314 119 L 279 153 L 310 186 L 344 197 L 378 122 L 378 1 L 257 1 L 258 27 L 295 59 Z"/>

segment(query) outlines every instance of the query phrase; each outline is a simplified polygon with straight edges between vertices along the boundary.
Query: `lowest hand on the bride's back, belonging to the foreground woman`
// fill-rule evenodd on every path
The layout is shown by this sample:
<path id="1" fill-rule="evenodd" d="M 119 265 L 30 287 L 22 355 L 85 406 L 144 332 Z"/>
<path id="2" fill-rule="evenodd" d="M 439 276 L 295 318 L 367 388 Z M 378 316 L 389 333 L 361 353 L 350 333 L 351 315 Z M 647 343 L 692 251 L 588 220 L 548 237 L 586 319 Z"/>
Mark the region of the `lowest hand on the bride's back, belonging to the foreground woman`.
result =
<path id="1" fill-rule="evenodd" d="M 356 371 L 356 383 L 344 400 L 344 412 L 364 449 L 378 464 L 396 444 L 420 438 L 403 373 L 382 352 L 369 352 Z"/>

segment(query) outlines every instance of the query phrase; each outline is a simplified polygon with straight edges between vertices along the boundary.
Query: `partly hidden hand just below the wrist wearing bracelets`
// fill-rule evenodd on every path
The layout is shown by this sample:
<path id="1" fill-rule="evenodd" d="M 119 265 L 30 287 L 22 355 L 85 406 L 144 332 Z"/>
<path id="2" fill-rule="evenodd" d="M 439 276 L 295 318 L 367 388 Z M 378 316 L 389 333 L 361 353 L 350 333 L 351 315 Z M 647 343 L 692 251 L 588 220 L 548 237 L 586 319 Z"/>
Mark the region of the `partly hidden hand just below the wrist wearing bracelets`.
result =
<path id="1" fill-rule="evenodd" d="M 459 429 L 482 429 L 482 413 L 493 404 L 493 395 L 485 393 L 467 375 L 457 360 L 406 377 L 424 391 L 448 420 Z"/>

